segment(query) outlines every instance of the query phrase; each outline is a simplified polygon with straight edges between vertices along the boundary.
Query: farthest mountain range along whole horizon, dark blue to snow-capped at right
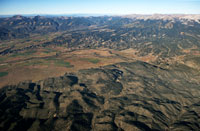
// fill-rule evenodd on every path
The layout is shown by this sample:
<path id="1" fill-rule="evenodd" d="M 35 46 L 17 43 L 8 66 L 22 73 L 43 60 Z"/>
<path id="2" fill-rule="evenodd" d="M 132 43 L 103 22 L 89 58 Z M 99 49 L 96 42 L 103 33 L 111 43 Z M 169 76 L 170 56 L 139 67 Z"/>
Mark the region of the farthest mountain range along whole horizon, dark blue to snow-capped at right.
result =
<path id="1" fill-rule="evenodd" d="M 68 31 L 73 29 L 89 28 L 91 26 L 121 26 L 131 24 L 136 20 L 160 20 L 200 23 L 200 15 L 126 15 L 126 16 L 99 16 L 99 17 L 25 17 L 15 15 L 9 18 L 0 18 L 0 40 L 25 38 L 31 34 L 47 34 L 51 32 Z M 119 26 L 119 27 L 120 27 Z"/>

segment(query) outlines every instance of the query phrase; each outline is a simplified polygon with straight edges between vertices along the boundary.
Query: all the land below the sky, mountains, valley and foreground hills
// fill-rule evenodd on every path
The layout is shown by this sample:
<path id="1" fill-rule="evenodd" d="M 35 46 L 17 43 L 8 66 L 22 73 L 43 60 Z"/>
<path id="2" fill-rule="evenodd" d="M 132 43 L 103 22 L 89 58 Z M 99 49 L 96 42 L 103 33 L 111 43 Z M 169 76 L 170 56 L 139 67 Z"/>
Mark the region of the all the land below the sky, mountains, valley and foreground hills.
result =
<path id="1" fill-rule="evenodd" d="M 0 18 L 0 87 L 0 130 L 198 131 L 199 15 Z"/>

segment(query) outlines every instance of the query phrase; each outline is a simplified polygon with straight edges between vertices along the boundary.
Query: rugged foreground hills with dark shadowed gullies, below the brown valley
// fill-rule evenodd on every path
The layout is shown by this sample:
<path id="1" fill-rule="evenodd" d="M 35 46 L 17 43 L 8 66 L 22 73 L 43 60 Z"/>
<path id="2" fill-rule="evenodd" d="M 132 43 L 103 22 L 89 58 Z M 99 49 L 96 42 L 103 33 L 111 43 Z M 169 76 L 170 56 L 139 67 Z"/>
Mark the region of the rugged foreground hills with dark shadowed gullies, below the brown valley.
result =
<path id="1" fill-rule="evenodd" d="M 4 87 L 1 130 L 198 130 L 200 74 L 180 66 L 118 63 Z"/>

